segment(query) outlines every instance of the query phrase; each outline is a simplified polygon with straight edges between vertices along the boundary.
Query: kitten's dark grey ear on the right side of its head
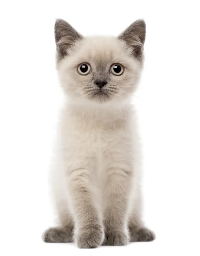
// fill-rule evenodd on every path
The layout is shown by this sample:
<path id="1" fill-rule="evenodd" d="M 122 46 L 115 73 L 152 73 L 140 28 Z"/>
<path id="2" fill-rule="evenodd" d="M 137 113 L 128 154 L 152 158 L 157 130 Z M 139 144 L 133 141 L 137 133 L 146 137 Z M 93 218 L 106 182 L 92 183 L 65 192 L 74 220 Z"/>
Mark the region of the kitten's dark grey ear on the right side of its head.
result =
<path id="1" fill-rule="evenodd" d="M 146 24 L 144 20 L 136 20 L 118 36 L 118 39 L 125 41 L 132 48 L 132 55 L 135 58 L 142 60 L 145 35 Z"/>

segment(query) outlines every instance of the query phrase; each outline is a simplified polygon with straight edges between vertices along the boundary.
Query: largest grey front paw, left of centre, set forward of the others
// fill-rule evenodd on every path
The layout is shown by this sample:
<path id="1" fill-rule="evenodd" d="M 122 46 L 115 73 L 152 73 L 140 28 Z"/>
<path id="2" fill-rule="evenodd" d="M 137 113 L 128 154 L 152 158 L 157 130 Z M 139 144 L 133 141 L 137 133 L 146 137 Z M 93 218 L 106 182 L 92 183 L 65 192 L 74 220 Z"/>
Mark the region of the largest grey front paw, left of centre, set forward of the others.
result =
<path id="1" fill-rule="evenodd" d="M 79 248 L 96 248 L 104 239 L 104 231 L 101 225 L 82 228 L 77 232 L 76 243 Z"/>

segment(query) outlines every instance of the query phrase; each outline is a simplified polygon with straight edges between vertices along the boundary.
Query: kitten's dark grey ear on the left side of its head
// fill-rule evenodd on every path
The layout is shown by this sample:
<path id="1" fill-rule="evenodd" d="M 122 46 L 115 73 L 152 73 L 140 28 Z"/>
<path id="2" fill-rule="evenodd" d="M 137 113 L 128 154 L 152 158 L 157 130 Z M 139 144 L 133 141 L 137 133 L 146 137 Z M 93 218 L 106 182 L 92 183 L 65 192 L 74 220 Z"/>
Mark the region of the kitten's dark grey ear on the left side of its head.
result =
<path id="1" fill-rule="evenodd" d="M 65 55 L 68 55 L 70 49 L 76 41 L 82 40 L 80 35 L 69 23 L 65 20 L 58 19 L 55 23 L 55 41 L 57 48 L 58 60 L 61 60 Z"/>

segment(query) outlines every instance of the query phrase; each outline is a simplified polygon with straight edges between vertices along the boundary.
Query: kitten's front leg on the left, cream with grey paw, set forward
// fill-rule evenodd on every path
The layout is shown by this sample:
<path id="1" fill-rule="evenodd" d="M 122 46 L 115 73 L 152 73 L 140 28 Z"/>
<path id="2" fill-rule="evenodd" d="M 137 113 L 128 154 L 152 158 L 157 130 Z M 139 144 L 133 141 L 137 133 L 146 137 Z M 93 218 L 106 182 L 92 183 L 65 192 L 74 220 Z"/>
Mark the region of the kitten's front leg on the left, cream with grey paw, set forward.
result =
<path id="1" fill-rule="evenodd" d="M 74 240 L 79 248 L 96 248 L 104 240 L 104 227 L 90 171 L 77 166 L 68 172 L 67 183 L 75 224 Z"/>

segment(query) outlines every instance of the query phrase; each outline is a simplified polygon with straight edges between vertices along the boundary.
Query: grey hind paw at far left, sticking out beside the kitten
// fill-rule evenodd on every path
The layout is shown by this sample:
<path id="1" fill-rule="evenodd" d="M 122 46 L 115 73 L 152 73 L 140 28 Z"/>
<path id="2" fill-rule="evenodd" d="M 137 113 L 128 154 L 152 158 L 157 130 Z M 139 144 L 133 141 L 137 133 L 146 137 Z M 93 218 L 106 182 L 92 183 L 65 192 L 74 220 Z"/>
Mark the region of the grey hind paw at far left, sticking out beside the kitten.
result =
<path id="1" fill-rule="evenodd" d="M 71 241 L 70 233 L 65 228 L 49 228 L 42 235 L 46 243 L 68 243 Z"/>

